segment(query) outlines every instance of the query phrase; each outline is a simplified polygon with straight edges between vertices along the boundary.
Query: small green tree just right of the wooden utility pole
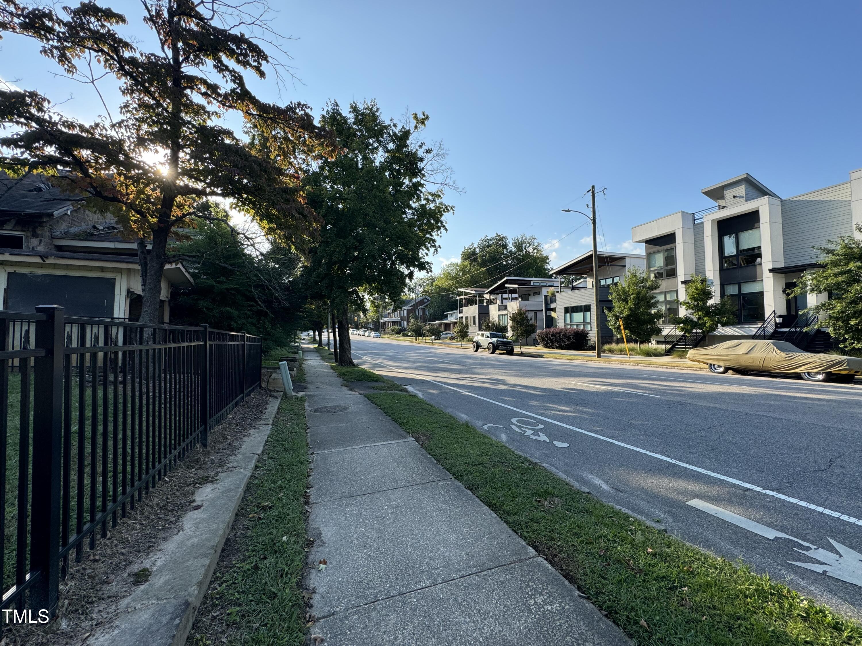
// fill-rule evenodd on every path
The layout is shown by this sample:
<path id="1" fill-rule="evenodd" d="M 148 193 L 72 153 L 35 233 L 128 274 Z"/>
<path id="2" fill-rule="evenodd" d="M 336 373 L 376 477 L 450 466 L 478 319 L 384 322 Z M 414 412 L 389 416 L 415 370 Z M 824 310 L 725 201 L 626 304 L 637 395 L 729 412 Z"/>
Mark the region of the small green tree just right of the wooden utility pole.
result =
<path id="1" fill-rule="evenodd" d="M 659 299 L 653 294 L 660 286 L 659 280 L 650 278 L 639 267 L 632 267 L 621 282 L 610 286 L 613 307 L 605 307 L 604 313 L 608 316 L 608 327 L 615 337 L 622 337 L 621 319 L 628 339 L 634 339 L 639 344 L 647 343 L 661 332 L 659 320 L 662 313 L 657 311 Z M 593 323 L 598 325 L 598 320 Z"/>

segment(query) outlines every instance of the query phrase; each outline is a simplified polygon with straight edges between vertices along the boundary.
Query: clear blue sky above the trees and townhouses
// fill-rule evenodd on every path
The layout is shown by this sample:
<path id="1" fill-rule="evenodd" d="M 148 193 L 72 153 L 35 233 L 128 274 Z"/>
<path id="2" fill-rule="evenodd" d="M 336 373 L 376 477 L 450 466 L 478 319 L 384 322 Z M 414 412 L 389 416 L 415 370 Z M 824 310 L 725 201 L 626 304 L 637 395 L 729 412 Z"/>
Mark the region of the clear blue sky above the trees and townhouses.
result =
<path id="1" fill-rule="evenodd" d="M 113 3 L 137 16 L 137 5 Z M 590 184 L 609 249 L 631 227 L 712 203 L 749 172 L 779 196 L 845 182 L 862 166 L 859 2 L 277 3 L 274 27 L 302 83 L 285 99 L 375 98 L 431 116 L 465 189 L 434 267 L 484 234 L 535 235 L 553 260 L 589 247 Z M 102 112 L 54 78 L 32 43 L 0 42 L 0 78 Z M 277 98 L 275 84 L 259 91 Z M 110 100 L 110 98 L 109 98 Z"/>

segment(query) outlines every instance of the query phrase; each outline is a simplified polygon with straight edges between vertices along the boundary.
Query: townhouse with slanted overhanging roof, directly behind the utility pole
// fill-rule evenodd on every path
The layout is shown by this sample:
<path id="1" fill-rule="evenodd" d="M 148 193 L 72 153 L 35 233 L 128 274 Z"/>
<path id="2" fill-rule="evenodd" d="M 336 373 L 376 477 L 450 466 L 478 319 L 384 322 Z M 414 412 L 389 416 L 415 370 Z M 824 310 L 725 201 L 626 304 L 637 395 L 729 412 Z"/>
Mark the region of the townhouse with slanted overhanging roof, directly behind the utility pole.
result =
<path id="1" fill-rule="evenodd" d="M 590 343 L 596 343 L 596 320 L 602 331 L 602 342 L 610 343 L 613 332 L 604 314 L 605 307 L 611 307 L 610 286 L 619 283 L 626 272 L 632 267 L 645 269 L 646 259 L 639 253 L 599 252 L 598 279 L 593 271 L 593 253 L 586 252 L 578 258 L 572 258 L 567 263 L 551 270 L 553 276 L 573 276 L 571 289 L 563 289 L 554 296 L 554 324 L 560 327 L 579 327 L 590 334 Z M 595 289 L 599 290 L 599 305 L 601 311 L 595 315 Z M 550 326 L 549 326 L 550 327 Z"/>

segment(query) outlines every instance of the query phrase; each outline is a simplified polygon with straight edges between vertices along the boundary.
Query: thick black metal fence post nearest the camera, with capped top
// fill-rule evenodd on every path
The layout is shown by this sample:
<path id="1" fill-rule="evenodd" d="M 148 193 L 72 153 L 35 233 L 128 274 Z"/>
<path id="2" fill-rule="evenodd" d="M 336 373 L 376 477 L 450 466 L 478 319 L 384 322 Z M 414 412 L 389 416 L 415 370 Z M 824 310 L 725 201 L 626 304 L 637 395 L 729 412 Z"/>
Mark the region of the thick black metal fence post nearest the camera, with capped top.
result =
<path id="1" fill-rule="evenodd" d="M 59 305 L 40 305 L 36 313 L 45 314 L 47 320 L 36 321 L 36 347 L 44 349 L 45 356 L 34 359 L 30 571 L 38 571 L 41 576 L 30 590 L 30 607 L 36 612 L 47 610 L 53 616 L 59 595 L 65 316 Z"/>

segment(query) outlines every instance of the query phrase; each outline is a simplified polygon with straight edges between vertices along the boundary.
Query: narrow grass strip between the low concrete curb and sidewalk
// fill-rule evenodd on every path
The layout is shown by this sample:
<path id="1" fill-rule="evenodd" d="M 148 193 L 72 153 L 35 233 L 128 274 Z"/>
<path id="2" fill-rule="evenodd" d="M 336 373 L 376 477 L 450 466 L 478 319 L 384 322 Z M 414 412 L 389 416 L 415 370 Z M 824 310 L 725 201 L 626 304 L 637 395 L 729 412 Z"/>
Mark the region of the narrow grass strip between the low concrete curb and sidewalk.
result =
<path id="1" fill-rule="evenodd" d="M 308 470 L 305 400 L 284 397 L 189 643 L 304 643 Z"/>

